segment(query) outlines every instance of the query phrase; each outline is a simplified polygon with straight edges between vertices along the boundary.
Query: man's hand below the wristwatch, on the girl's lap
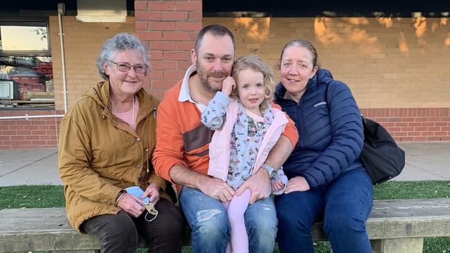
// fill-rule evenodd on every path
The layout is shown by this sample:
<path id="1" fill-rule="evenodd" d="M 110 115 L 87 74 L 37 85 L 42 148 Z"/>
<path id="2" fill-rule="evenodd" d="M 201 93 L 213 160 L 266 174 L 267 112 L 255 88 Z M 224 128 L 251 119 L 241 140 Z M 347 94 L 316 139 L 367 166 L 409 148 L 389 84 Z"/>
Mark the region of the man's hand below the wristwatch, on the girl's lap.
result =
<path id="1" fill-rule="evenodd" d="M 250 204 L 255 203 L 256 200 L 269 197 L 271 184 L 267 170 L 259 169 L 258 172 L 253 174 L 253 176 L 247 179 L 241 187 L 237 189 L 236 195 L 241 195 L 244 192 L 244 189 L 247 188 L 251 190 Z"/>

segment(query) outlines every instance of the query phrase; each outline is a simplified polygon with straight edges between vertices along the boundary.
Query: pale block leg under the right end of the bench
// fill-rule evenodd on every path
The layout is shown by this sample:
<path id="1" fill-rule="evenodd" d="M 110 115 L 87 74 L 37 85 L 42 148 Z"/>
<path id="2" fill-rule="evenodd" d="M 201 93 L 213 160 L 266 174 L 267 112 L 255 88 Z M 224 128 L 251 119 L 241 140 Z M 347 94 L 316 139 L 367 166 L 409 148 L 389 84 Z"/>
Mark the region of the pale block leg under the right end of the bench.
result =
<path id="1" fill-rule="evenodd" d="M 424 238 L 371 240 L 373 253 L 422 253 Z"/>

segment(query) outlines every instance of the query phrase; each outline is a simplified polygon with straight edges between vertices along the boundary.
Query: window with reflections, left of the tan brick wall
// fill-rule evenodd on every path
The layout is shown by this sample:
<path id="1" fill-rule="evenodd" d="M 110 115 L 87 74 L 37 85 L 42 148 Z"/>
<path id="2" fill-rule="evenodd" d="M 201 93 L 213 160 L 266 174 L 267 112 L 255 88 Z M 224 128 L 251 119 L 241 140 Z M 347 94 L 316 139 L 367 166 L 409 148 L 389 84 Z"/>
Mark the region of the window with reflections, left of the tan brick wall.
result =
<path id="1" fill-rule="evenodd" d="M 0 109 L 55 106 L 46 21 L 0 21 Z"/>

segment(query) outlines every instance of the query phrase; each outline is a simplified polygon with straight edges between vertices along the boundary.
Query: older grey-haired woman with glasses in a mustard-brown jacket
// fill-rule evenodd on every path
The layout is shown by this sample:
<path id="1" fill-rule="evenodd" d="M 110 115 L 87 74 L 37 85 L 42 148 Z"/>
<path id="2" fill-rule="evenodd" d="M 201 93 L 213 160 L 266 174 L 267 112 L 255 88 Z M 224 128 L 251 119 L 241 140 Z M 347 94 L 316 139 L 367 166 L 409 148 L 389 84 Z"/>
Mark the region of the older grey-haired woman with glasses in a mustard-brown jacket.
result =
<path id="1" fill-rule="evenodd" d="M 138 234 L 148 252 L 180 252 L 183 218 L 167 194 L 171 185 L 150 163 L 159 101 L 142 88 L 147 50 L 120 33 L 105 42 L 97 66 L 105 82 L 89 88 L 61 122 L 58 161 L 69 221 L 102 238 L 101 252 L 135 252 Z M 132 186 L 145 192 L 127 193 Z M 147 214 L 145 197 L 157 216 Z"/>

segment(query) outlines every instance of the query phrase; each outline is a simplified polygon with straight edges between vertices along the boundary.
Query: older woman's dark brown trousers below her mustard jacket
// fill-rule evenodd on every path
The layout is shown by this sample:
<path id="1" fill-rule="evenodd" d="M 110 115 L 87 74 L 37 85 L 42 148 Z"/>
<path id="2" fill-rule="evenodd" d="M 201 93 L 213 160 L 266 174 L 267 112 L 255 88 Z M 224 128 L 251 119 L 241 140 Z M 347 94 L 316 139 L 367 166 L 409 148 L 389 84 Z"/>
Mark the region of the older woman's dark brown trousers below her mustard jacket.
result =
<path id="1" fill-rule="evenodd" d="M 179 210 L 165 198 L 161 198 L 155 208 L 159 214 L 151 222 L 145 221 L 147 211 L 138 218 L 120 211 L 89 218 L 82 223 L 82 230 L 102 239 L 102 253 L 134 253 L 138 234 L 147 240 L 149 253 L 181 252 L 184 220 Z M 152 217 L 149 214 L 147 219 Z"/>

